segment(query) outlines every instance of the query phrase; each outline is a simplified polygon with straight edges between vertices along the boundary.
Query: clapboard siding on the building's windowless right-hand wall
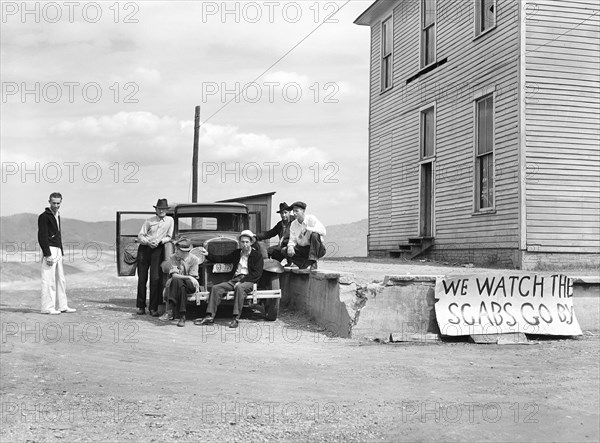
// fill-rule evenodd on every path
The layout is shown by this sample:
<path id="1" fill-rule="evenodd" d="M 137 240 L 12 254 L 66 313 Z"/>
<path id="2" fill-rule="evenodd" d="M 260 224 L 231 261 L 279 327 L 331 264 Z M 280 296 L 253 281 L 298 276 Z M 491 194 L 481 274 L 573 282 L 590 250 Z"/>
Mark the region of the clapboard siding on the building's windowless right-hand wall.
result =
<path id="1" fill-rule="evenodd" d="M 525 32 L 527 249 L 598 253 L 598 3 L 535 4 Z"/>

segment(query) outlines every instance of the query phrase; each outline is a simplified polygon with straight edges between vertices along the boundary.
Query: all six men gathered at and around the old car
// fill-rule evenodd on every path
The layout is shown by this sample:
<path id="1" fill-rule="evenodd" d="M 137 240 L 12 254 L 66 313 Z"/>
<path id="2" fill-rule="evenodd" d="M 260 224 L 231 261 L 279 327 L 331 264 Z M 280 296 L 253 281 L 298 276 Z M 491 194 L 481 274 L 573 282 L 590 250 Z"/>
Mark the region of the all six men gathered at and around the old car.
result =
<path id="1" fill-rule="evenodd" d="M 62 237 L 59 208 L 62 203 L 60 193 L 50 194 L 49 207 L 38 217 L 38 242 L 44 254 L 42 260 L 41 312 L 60 314 L 75 312 L 67 305 L 66 284 L 62 266 Z M 160 320 L 170 321 L 179 317 L 177 326 L 185 326 L 188 294 L 200 291 L 198 283 L 201 260 L 191 254 L 192 243 L 187 238 L 174 242 L 175 252 L 164 257 L 165 244 L 172 241 L 175 226 L 172 217 L 167 215 L 169 204 L 166 199 L 158 199 L 154 210 L 156 215 L 147 219 L 138 234 L 137 254 L 137 314 L 146 313 L 146 285 L 150 279 L 149 313 L 158 317 L 158 306 L 163 295 L 162 272 L 168 273 L 165 283 L 164 301 L 167 309 Z M 288 206 L 279 205 L 279 221 L 269 231 L 255 235 L 250 230 L 242 231 L 238 237 L 240 248 L 231 252 L 221 261 L 233 264 L 233 277 L 212 287 L 206 316 L 194 321 L 196 325 L 214 323 L 217 308 L 229 291 L 234 293 L 233 319 L 230 328 L 237 328 L 244 300 L 253 291 L 254 285 L 262 276 L 264 259 L 272 258 L 287 265 L 302 269 L 317 269 L 317 261 L 325 255 L 323 244 L 326 233 L 323 224 L 312 214 L 306 213 L 306 203 L 297 201 Z M 279 237 L 277 245 L 262 251 L 260 240 Z M 204 247 L 198 248 L 209 261 L 213 259 Z M 265 256 L 265 257 L 264 257 Z M 163 261 L 164 259 L 164 261 Z"/>

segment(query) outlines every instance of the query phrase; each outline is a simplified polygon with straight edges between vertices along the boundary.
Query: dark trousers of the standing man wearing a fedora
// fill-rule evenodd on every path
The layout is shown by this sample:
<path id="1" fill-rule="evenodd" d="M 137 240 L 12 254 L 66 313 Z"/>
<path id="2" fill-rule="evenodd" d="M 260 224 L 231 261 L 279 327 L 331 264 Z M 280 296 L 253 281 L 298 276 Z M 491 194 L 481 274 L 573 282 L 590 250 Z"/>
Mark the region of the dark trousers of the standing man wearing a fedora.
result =
<path id="1" fill-rule="evenodd" d="M 136 306 L 146 308 L 146 283 L 150 274 L 150 310 L 157 311 L 158 303 L 162 295 L 162 273 L 160 262 L 163 259 L 165 246 L 158 245 L 152 249 L 147 245 L 138 248 L 138 292 Z"/>

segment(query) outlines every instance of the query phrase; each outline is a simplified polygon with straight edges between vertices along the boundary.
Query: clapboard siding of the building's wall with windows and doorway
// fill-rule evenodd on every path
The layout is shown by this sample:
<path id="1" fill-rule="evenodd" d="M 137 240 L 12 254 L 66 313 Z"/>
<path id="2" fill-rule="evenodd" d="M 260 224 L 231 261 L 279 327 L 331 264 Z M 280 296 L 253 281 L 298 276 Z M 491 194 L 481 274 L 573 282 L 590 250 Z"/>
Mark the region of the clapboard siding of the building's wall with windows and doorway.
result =
<path id="1" fill-rule="evenodd" d="M 456 8 L 457 2 L 439 0 L 437 60 L 448 62 L 406 85 L 420 70 L 419 2 L 389 3 L 390 11 L 395 5 L 394 87 L 384 93 L 381 21 L 371 26 L 370 249 L 397 249 L 419 234 L 419 109 L 434 102 L 436 244 L 518 248 L 519 5 L 498 0 L 497 28 L 474 40 L 472 2 L 450 15 L 439 11 Z M 496 88 L 496 205 L 494 213 L 473 215 L 472 94 L 489 86 Z"/>

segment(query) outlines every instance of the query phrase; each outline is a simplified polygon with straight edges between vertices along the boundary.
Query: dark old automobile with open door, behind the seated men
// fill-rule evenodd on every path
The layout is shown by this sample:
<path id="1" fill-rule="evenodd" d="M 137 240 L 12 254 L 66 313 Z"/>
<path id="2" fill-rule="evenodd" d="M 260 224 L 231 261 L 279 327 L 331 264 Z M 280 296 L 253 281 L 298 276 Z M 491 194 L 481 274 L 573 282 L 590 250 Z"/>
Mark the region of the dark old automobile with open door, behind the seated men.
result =
<path id="1" fill-rule="evenodd" d="M 133 276 L 136 272 L 137 234 L 143 220 L 152 216 L 153 212 L 119 211 L 117 212 L 117 271 L 120 276 Z M 175 227 L 173 239 L 186 237 L 192 241 L 195 254 L 201 261 L 199 269 L 200 292 L 188 297 L 189 303 L 201 305 L 206 303 L 211 288 L 218 283 L 229 280 L 233 276 L 233 266 L 225 263 L 225 257 L 239 247 L 238 235 L 249 229 L 250 218 L 248 207 L 242 203 L 179 203 L 169 206 L 167 215 L 173 217 Z M 256 228 L 255 228 L 256 229 Z M 208 262 L 198 251 L 203 246 L 215 261 Z M 173 244 L 165 246 L 165 255 L 173 252 Z M 281 290 L 279 274 L 283 267 L 276 260 L 265 258 L 263 276 L 255 285 L 255 290 L 247 296 L 244 306 L 262 306 L 267 320 L 276 320 L 279 312 Z M 166 281 L 167 275 L 163 275 Z M 223 304 L 233 303 L 233 292 L 230 292 Z"/>

